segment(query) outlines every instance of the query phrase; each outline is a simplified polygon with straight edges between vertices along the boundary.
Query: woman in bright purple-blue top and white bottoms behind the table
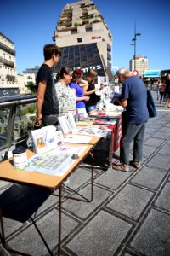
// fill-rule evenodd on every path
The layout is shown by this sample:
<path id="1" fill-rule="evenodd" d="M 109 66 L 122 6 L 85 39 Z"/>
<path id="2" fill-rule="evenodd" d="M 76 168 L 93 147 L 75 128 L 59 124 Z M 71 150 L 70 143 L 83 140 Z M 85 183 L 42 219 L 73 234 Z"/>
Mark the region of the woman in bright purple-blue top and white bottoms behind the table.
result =
<path id="1" fill-rule="evenodd" d="M 87 117 L 85 108 L 85 102 L 88 102 L 89 96 L 84 96 L 84 91 L 79 83 L 82 83 L 82 70 L 76 69 L 72 73 L 72 79 L 70 87 L 75 89 L 77 95 L 77 114 L 82 113 L 84 117 Z M 86 84 L 84 84 L 85 86 Z"/>

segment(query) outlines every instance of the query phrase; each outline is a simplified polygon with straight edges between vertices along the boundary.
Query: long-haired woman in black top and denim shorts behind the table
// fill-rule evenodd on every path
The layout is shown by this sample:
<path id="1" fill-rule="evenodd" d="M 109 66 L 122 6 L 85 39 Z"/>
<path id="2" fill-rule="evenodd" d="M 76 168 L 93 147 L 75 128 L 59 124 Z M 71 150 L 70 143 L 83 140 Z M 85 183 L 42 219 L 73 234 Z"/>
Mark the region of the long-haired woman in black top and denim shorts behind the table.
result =
<path id="1" fill-rule="evenodd" d="M 84 86 L 84 95 L 89 96 L 89 101 L 86 102 L 86 110 L 88 114 L 97 113 L 97 96 L 95 92 L 98 90 L 95 88 L 94 80 L 97 76 L 97 73 L 94 69 L 89 69 L 87 73 L 88 86 Z M 99 90 L 102 90 L 101 86 Z"/>

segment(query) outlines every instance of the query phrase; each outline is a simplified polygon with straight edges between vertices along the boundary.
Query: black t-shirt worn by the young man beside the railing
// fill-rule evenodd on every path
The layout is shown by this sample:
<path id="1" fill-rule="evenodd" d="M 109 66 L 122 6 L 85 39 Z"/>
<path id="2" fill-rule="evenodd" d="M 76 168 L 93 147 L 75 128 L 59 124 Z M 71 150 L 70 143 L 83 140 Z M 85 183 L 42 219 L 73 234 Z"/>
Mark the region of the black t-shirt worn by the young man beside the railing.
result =
<path id="1" fill-rule="evenodd" d="M 42 64 L 37 73 L 36 84 L 42 81 L 47 81 L 45 90 L 44 102 L 42 105 L 42 115 L 56 114 L 57 110 L 54 105 L 54 90 L 53 90 L 53 78 L 52 69 L 46 64 Z"/>

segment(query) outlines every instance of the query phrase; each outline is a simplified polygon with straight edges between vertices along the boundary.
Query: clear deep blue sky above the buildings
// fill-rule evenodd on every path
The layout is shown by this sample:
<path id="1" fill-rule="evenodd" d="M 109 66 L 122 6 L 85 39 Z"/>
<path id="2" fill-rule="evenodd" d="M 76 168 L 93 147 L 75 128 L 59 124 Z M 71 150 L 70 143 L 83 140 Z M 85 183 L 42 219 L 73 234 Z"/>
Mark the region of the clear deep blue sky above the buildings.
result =
<path id="1" fill-rule="evenodd" d="M 44 44 L 54 43 L 55 27 L 68 0 L 1 0 L 0 32 L 14 42 L 17 73 L 43 62 Z M 133 58 L 134 22 L 136 54 L 145 55 L 150 69 L 170 69 L 170 3 L 154 1 L 94 0 L 112 36 L 112 66 L 129 67 Z"/>

